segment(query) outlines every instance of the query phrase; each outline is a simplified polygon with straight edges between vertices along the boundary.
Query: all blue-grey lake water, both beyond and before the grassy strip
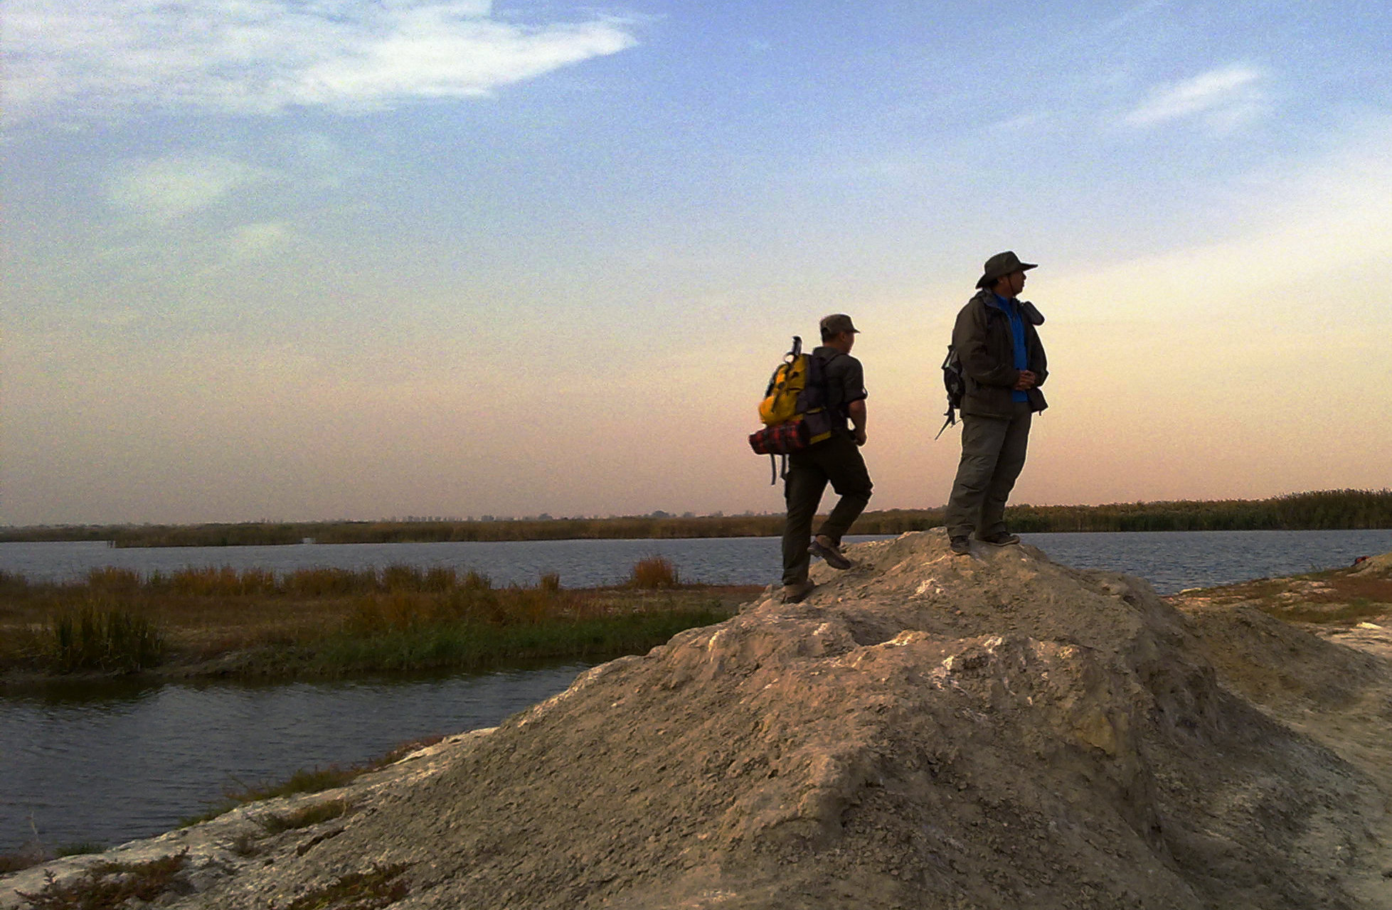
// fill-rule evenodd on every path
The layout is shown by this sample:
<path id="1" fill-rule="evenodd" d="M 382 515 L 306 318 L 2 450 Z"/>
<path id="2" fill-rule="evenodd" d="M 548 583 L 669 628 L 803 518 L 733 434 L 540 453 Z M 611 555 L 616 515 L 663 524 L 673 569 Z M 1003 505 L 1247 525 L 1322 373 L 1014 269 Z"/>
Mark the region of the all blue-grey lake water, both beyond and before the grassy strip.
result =
<path id="1" fill-rule="evenodd" d="M 857 538 L 866 540 L 866 538 Z M 1392 530 L 1027 534 L 1057 562 L 1148 579 L 1161 593 L 1349 565 L 1392 551 Z M 0 570 L 77 579 L 117 565 L 149 573 L 188 565 L 290 572 L 406 564 L 477 569 L 500 584 L 560 572 L 574 587 L 622 580 L 661 554 L 682 577 L 764 584 L 778 541 L 585 540 L 110 550 L 0 544 Z M 107 845 L 167 831 L 221 790 L 283 781 L 299 768 L 351 764 L 395 744 L 477 726 L 565 689 L 580 664 L 432 680 L 278 686 L 54 687 L 0 699 L 0 852 L 38 828 L 45 843 Z"/>

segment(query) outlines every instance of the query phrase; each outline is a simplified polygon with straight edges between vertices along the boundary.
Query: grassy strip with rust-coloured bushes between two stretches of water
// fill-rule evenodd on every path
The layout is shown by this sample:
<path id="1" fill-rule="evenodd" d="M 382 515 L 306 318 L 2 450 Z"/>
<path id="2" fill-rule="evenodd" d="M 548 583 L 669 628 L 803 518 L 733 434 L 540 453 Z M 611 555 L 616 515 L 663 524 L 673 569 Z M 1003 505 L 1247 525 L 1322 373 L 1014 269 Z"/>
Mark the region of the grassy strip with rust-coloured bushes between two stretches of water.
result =
<path id="1" fill-rule="evenodd" d="M 341 676 L 477 669 L 640 653 L 731 616 L 759 587 L 682 584 L 661 557 L 624 586 L 555 575 L 494 587 L 477 572 L 95 569 L 75 583 L 0 572 L 0 680 Z"/>

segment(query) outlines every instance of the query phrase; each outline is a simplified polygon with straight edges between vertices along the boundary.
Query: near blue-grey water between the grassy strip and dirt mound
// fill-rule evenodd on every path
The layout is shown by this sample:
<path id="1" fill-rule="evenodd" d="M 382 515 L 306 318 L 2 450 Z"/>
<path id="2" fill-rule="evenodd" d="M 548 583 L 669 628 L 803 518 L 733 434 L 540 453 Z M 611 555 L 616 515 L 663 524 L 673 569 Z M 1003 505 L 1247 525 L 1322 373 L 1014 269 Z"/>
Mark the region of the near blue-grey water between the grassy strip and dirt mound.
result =
<path id="1" fill-rule="evenodd" d="M 564 690 L 586 666 L 263 686 L 46 687 L 7 699 L 0 850 L 29 840 L 31 822 L 47 845 L 150 836 L 198 814 L 228 786 L 493 726 Z"/>

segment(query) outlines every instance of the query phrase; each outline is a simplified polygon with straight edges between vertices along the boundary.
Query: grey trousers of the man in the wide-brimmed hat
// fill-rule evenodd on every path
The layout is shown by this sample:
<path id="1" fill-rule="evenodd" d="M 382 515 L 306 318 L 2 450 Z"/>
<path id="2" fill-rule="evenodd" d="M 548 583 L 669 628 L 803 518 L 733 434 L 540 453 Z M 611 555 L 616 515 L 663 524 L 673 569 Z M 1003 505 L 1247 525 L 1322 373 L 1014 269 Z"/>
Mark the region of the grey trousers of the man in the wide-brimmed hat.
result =
<path id="1" fill-rule="evenodd" d="M 1005 532 L 1005 501 L 1025 468 L 1030 441 L 1029 402 L 1011 417 L 962 415 L 962 461 L 948 498 L 949 537 L 991 537 Z"/>

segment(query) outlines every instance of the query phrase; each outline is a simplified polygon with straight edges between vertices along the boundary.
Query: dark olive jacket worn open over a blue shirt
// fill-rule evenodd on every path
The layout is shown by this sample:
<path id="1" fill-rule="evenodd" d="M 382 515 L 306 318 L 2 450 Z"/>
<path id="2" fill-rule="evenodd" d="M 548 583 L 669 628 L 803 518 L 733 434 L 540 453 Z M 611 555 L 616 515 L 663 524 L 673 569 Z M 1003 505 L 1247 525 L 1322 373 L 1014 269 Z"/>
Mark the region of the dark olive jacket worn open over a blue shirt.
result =
<path id="1" fill-rule="evenodd" d="M 1015 369 L 1015 341 L 1011 338 L 1011 319 L 992 303 L 995 295 L 990 289 L 976 292 L 958 313 L 952 327 L 952 346 L 962 360 L 966 377 L 966 392 L 962 397 L 962 413 L 981 417 L 1009 417 L 1013 410 L 1011 391 L 1020 378 Z M 1038 376 L 1038 383 L 1029 391 L 1030 410 L 1044 410 L 1048 402 L 1038 390 L 1048 378 L 1048 360 L 1036 326 L 1044 324 L 1044 317 L 1033 303 L 1020 302 L 1025 316 L 1025 351 L 1030 372 Z"/>

